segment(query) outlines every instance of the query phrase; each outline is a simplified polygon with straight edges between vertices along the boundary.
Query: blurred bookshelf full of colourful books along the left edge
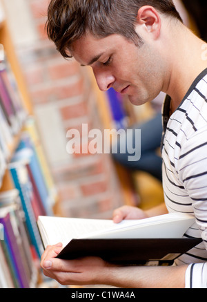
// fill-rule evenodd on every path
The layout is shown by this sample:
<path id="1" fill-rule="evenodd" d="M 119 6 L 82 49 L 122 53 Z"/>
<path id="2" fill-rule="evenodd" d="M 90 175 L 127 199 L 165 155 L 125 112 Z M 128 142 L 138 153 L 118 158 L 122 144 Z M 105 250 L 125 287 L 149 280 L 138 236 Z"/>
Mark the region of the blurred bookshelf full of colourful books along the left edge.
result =
<path id="1" fill-rule="evenodd" d="M 1 6 L 0 44 L 0 288 L 31 288 L 41 279 L 37 216 L 54 215 L 58 200 Z"/>

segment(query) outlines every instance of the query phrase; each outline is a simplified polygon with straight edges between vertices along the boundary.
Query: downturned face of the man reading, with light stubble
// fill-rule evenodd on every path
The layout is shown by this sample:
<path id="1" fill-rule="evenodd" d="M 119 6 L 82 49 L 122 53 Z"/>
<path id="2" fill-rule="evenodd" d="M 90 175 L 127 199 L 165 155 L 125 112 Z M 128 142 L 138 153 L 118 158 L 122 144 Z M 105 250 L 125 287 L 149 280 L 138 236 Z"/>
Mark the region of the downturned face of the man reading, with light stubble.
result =
<path id="1" fill-rule="evenodd" d="M 114 88 L 132 104 L 153 100 L 161 91 L 161 60 L 150 43 L 140 48 L 121 35 L 96 38 L 86 34 L 72 44 L 72 55 L 91 66 L 101 91 Z"/>

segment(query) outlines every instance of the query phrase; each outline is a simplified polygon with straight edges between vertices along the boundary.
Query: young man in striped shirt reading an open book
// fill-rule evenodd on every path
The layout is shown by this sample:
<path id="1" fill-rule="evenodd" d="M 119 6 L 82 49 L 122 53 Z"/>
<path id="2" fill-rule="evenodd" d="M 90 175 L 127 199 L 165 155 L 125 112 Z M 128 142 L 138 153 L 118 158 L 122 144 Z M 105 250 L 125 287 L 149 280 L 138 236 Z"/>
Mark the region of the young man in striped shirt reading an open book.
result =
<path id="1" fill-rule="evenodd" d="M 206 44 L 188 30 L 171 0 L 52 0 L 48 35 L 64 57 L 91 66 L 101 91 L 115 88 L 135 105 L 160 91 L 165 204 L 115 210 L 114 221 L 179 211 L 195 215 L 186 236 L 203 242 L 172 267 L 121 267 L 101 258 L 61 261 L 48 247 L 41 266 L 62 284 L 117 287 L 207 287 Z"/>

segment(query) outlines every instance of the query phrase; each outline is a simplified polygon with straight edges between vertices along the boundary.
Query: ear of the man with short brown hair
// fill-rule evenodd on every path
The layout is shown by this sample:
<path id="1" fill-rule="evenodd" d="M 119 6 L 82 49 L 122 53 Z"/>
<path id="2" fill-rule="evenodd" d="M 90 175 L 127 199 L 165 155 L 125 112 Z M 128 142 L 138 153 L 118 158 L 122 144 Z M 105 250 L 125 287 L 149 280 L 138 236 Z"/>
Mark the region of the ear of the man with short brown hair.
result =
<path id="1" fill-rule="evenodd" d="M 137 12 L 137 24 L 153 34 L 157 39 L 161 30 L 161 17 L 152 6 L 141 6 Z"/>

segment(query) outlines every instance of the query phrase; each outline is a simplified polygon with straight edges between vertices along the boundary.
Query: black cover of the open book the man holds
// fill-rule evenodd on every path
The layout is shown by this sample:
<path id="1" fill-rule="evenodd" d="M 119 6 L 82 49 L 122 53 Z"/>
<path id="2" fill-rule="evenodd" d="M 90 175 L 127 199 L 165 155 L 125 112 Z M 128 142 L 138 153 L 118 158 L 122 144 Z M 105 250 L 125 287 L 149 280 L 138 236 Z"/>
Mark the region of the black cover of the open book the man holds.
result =
<path id="1" fill-rule="evenodd" d="M 201 243 L 200 238 L 72 239 L 57 258 L 99 256 L 122 265 L 172 265 L 181 254 Z"/>

